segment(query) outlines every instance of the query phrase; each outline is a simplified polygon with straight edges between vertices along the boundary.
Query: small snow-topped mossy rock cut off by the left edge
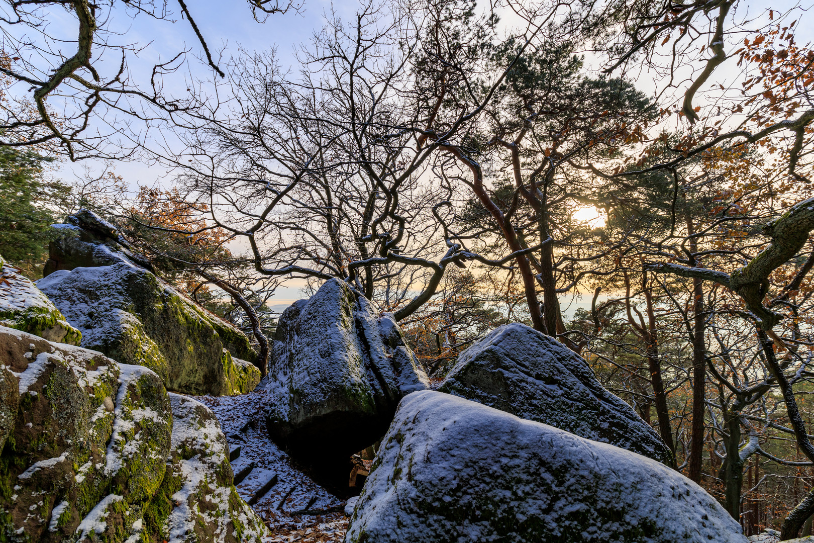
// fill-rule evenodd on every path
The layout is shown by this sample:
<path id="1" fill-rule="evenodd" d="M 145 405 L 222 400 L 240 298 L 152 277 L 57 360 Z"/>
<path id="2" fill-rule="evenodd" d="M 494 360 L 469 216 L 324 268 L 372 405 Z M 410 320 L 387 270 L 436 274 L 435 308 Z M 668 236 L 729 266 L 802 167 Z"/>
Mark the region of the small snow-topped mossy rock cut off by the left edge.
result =
<path id="1" fill-rule="evenodd" d="M 0 326 L 78 345 L 82 334 L 20 270 L 0 256 Z"/>

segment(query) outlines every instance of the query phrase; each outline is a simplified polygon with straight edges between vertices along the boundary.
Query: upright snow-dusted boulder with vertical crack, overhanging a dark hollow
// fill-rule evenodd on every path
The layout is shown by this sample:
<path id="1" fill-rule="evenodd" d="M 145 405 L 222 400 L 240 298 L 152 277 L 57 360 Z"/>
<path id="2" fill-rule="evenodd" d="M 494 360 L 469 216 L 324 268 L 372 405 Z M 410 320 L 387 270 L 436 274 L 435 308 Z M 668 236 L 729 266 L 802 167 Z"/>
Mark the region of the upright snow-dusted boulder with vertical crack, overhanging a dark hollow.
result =
<path id="1" fill-rule="evenodd" d="M 369 300 L 331 279 L 279 319 L 265 392 L 269 434 L 301 456 L 347 458 L 383 436 L 402 396 L 427 385 L 392 316 L 379 318 Z"/>

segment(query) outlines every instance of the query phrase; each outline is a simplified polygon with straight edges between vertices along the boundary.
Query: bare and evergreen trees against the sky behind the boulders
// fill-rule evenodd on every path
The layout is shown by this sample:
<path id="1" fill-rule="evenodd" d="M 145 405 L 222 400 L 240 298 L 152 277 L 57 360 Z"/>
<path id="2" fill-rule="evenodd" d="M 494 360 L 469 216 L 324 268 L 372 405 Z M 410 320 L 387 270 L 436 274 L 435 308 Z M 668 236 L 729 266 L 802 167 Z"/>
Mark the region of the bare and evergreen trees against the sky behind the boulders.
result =
<path id="1" fill-rule="evenodd" d="M 258 24 L 303 9 L 249 5 Z M 214 50 L 183 2 L 4 2 L 0 254 L 37 278 L 48 225 L 92 208 L 261 357 L 292 278 L 355 284 L 435 378 L 526 323 L 747 535 L 811 533 L 814 50 L 802 7 L 748 8 L 373 2 L 329 13 L 288 70 Z M 112 14 L 199 44 L 139 81 Z M 111 168 L 58 180 L 60 160 Z M 172 182 L 115 173 L 139 160 Z"/>

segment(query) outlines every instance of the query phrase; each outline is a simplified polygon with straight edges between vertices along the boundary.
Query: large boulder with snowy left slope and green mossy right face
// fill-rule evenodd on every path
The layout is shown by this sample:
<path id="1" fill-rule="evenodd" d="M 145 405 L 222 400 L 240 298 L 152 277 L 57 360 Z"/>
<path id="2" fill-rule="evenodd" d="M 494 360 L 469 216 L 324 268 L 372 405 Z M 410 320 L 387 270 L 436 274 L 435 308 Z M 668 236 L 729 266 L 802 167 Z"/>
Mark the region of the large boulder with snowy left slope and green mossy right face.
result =
<path id="1" fill-rule="evenodd" d="M 129 261 L 60 269 L 37 287 L 81 331 L 82 347 L 147 366 L 169 390 L 218 396 L 260 383 L 243 362 L 256 360 L 246 335 Z"/>

